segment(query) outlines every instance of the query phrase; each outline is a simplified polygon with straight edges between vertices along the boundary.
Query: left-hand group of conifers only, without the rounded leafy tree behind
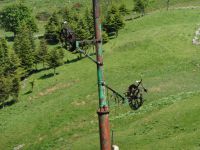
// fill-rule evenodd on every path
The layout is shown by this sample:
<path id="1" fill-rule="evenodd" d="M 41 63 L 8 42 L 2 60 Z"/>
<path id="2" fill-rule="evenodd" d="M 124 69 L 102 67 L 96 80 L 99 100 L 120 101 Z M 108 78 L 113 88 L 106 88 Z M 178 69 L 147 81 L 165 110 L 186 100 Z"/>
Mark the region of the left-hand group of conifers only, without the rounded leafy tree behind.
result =
<path id="1" fill-rule="evenodd" d="M 0 38 L 0 105 L 18 101 L 20 80 L 37 70 L 37 64 L 46 64 L 55 69 L 63 64 L 62 48 L 48 50 L 45 39 L 36 48 L 32 32 L 22 23 L 16 33 L 13 47 L 9 48 L 5 38 Z"/>

